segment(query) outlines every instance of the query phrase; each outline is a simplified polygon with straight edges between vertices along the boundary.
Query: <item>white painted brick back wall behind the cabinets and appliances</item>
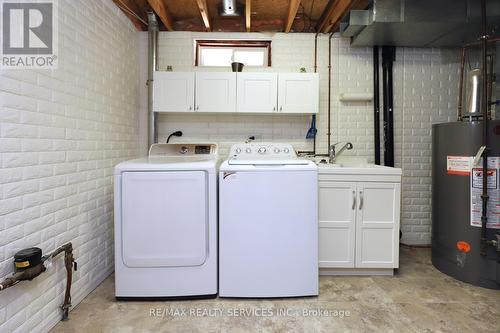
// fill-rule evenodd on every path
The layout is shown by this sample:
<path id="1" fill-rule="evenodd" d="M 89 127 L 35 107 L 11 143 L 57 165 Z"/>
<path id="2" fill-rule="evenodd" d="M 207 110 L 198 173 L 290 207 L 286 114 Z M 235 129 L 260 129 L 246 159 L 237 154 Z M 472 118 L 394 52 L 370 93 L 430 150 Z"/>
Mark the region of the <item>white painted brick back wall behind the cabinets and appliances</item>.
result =
<path id="1" fill-rule="evenodd" d="M 174 71 L 210 71 L 217 68 L 196 68 L 195 39 L 271 38 L 272 67 L 248 71 L 314 70 L 314 34 L 240 34 L 161 32 L 159 35 L 159 69 L 168 65 Z M 145 36 L 142 36 L 145 40 Z M 141 57 L 144 67 L 145 55 Z M 318 38 L 318 73 L 320 75 L 320 111 L 317 119 L 318 152 L 327 152 L 328 104 L 328 38 Z M 372 103 L 339 101 L 345 92 L 372 92 L 373 67 L 371 48 L 351 48 L 347 39 L 332 40 L 332 112 L 331 142 L 349 140 L 354 144 L 346 155 L 357 155 L 373 162 Z M 394 64 L 395 159 L 403 168 L 402 242 L 430 243 L 431 195 L 431 125 L 455 120 L 458 94 L 458 51 L 440 49 L 397 49 Z M 206 115 L 161 114 L 159 139 L 182 130 L 184 137 L 172 140 L 214 141 L 227 148 L 250 135 L 259 141 L 283 141 L 296 149 L 312 149 L 305 139 L 310 117 L 307 115 Z M 146 151 L 145 145 L 142 150 Z"/>

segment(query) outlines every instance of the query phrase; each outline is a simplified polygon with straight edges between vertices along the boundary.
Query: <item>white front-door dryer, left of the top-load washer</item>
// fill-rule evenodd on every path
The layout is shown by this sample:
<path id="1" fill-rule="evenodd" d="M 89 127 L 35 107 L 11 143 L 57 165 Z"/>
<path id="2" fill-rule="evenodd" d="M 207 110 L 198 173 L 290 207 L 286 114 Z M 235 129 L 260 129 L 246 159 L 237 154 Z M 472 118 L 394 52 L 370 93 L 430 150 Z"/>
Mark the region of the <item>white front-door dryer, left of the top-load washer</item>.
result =
<path id="1" fill-rule="evenodd" d="M 217 294 L 217 146 L 156 144 L 115 167 L 117 298 Z"/>

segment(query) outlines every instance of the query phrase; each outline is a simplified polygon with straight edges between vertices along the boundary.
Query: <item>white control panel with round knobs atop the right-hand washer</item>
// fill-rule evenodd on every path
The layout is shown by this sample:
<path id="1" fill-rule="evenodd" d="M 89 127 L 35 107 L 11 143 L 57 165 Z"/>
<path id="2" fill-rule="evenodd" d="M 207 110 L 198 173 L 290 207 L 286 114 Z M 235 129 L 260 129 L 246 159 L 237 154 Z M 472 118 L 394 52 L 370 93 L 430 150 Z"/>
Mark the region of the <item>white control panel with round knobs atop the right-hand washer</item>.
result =
<path id="1" fill-rule="evenodd" d="M 241 143 L 231 147 L 229 156 L 239 160 L 296 159 L 297 154 L 288 143 Z"/>

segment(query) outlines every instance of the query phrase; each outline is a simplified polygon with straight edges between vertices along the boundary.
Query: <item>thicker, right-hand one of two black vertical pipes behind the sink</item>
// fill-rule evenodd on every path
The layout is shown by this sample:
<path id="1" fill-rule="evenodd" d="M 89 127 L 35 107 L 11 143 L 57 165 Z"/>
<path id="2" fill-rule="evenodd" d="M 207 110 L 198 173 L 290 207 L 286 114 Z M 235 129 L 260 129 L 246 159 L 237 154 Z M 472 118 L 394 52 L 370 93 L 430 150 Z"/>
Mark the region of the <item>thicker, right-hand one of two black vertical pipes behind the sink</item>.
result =
<path id="1" fill-rule="evenodd" d="M 394 166 L 394 96 L 392 64 L 395 60 L 394 46 L 382 47 L 382 85 L 384 99 L 384 165 Z"/>

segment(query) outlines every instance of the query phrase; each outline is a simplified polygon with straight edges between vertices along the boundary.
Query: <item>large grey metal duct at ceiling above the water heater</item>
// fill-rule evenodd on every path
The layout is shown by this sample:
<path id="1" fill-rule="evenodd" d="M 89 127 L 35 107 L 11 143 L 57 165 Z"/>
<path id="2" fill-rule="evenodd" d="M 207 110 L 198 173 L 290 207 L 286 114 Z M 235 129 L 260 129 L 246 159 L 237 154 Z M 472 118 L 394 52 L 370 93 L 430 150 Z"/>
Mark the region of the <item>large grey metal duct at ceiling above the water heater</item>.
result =
<path id="1" fill-rule="evenodd" d="M 486 6 L 489 26 L 499 27 L 500 1 Z M 340 32 L 352 46 L 458 47 L 477 41 L 480 22 L 477 0 L 373 0 L 367 10 L 351 10 Z"/>

